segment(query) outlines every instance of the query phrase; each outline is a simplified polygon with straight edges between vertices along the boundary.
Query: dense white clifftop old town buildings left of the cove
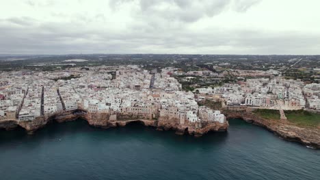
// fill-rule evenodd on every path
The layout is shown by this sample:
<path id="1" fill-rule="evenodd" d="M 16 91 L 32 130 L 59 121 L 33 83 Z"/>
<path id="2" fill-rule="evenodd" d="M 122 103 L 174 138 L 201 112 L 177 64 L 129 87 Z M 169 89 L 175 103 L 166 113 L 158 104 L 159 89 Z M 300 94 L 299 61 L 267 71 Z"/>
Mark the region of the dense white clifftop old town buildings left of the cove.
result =
<path id="1" fill-rule="evenodd" d="M 77 77 L 70 78 L 68 76 Z M 163 70 L 150 74 L 137 65 L 118 67 L 90 67 L 90 70 L 72 68 L 60 72 L 32 72 L 15 78 L 12 73 L 3 74 L 7 82 L 1 82 L 1 117 L 31 121 L 39 116 L 53 115 L 62 110 L 83 109 L 91 113 L 131 115 L 141 119 L 165 119 L 178 123 L 217 121 L 226 117 L 218 110 L 199 107 L 194 93 L 179 91 L 181 84 Z M 66 80 L 57 78 L 63 78 Z M 12 85 L 16 83 L 16 86 Z M 24 89 L 16 103 L 14 115 L 8 112 L 13 104 L 12 93 L 20 84 Z M 16 92 L 17 93 L 17 92 Z M 21 106 L 21 108 L 18 108 Z M 5 108 L 4 108 L 5 107 Z M 21 110 L 20 110 L 21 109 Z M 11 110 L 11 109 L 10 109 Z"/>

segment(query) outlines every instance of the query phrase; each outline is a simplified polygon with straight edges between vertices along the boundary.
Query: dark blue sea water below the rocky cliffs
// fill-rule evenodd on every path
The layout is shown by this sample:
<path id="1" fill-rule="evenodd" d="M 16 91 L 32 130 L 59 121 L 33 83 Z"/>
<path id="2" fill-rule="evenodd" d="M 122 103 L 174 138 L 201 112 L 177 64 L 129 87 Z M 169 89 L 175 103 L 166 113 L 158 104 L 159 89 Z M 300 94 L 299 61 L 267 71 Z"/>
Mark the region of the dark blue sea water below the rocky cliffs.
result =
<path id="1" fill-rule="evenodd" d="M 77 121 L 1 131 L 0 179 L 320 179 L 320 151 L 237 119 L 202 138 Z"/>

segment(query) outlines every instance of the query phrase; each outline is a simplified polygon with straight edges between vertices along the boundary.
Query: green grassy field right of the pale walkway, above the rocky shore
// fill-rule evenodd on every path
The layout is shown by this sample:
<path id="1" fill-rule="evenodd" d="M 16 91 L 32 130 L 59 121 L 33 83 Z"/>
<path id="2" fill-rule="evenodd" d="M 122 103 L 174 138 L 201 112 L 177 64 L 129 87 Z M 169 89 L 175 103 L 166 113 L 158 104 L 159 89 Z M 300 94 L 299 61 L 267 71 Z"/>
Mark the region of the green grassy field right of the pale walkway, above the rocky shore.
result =
<path id="1" fill-rule="evenodd" d="M 320 126 L 320 115 L 306 110 L 285 110 L 286 118 L 299 126 Z"/>

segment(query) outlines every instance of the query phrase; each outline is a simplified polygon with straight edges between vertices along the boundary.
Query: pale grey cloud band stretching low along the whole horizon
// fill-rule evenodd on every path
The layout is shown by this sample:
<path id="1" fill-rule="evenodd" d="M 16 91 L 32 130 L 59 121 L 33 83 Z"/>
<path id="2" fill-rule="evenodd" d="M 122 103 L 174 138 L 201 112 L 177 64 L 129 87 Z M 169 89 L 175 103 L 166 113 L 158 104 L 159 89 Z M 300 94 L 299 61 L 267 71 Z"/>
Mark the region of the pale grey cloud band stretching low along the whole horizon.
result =
<path id="1" fill-rule="evenodd" d="M 1 24 L 0 24 L 1 25 Z M 304 54 L 317 53 L 319 35 L 261 31 L 210 32 L 151 31 L 108 32 L 79 29 L 68 23 L 37 27 L 1 25 L 0 53 L 203 53 L 203 54 Z M 222 48 L 226 47 L 226 48 Z"/>

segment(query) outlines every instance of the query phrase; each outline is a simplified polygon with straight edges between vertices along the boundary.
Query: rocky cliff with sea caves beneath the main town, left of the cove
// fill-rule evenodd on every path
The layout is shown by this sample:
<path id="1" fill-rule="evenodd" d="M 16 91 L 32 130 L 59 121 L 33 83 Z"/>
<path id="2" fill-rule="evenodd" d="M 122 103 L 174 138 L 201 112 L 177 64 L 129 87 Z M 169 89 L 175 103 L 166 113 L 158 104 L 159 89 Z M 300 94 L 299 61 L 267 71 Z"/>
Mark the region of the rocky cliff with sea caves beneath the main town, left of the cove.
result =
<path id="1" fill-rule="evenodd" d="M 176 134 L 190 134 L 193 136 L 202 136 L 208 132 L 226 132 L 228 130 L 228 121 L 225 123 L 206 122 L 206 123 L 187 123 L 181 125 L 178 121 L 151 120 L 133 118 L 128 115 L 118 115 L 116 119 L 105 113 L 75 113 L 79 110 L 64 111 L 51 115 L 49 117 L 38 117 L 34 121 L 3 120 L 0 121 L 0 129 L 14 130 L 16 127 L 23 127 L 28 134 L 33 134 L 36 130 L 44 127 L 46 124 L 57 121 L 64 123 L 67 121 L 76 121 L 85 119 L 89 125 L 107 129 L 109 127 L 123 127 L 131 122 L 139 122 L 143 125 L 155 127 L 157 130 L 175 130 Z"/>

